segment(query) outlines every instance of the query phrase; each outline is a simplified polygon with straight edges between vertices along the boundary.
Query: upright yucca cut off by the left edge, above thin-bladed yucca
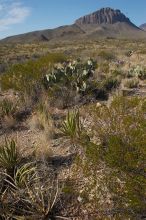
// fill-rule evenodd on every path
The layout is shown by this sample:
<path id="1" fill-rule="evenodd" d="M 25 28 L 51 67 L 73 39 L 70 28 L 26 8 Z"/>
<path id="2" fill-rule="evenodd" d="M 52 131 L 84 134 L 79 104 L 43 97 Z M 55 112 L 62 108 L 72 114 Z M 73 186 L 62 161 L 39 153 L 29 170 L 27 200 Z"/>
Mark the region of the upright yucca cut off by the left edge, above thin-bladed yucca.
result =
<path id="1" fill-rule="evenodd" d="M 13 176 L 18 159 L 19 156 L 15 141 L 5 140 L 5 145 L 0 147 L 0 167 L 5 169 L 7 174 Z"/>

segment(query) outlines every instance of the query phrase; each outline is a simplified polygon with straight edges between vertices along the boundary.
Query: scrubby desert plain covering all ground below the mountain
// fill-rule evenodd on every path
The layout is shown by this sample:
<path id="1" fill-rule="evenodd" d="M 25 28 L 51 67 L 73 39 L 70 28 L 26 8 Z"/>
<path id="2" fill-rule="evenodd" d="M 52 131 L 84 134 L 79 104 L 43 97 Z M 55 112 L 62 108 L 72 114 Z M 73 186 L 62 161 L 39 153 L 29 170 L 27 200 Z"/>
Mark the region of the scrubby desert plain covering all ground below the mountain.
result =
<path id="1" fill-rule="evenodd" d="M 0 76 L 2 220 L 146 215 L 144 47 L 107 38 L 1 48 L 3 60 L 11 53 Z"/>

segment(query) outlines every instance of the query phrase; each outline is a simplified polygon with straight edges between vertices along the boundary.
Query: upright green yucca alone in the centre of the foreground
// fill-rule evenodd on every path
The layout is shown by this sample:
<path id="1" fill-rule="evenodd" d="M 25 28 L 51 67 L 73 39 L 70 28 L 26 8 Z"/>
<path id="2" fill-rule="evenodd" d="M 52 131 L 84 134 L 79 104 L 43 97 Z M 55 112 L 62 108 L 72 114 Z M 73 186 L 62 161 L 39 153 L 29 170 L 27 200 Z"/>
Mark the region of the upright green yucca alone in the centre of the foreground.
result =
<path id="1" fill-rule="evenodd" d="M 79 111 L 68 112 L 66 120 L 62 124 L 62 133 L 71 140 L 78 139 L 82 132 Z"/>

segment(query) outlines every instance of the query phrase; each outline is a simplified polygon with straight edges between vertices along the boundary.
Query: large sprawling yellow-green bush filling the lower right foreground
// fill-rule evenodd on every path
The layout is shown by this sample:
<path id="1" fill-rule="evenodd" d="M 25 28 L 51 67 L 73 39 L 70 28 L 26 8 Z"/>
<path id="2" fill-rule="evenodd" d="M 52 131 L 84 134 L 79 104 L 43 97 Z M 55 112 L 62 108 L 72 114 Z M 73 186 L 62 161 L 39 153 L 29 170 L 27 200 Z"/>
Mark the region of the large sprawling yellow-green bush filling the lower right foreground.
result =
<path id="1" fill-rule="evenodd" d="M 102 213 L 110 210 L 106 214 L 110 217 L 112 212 L 123 219 L 145 216 L 145 103 L 137 97 L 116 96 L 109 106 L 91 107 L 92 135 L 80 136 L 76 165 L 86 179 L 88 199 L 85 202 L 81 195 L 81 200 L 93 204 L 93 213 L 98 208 Z"/>

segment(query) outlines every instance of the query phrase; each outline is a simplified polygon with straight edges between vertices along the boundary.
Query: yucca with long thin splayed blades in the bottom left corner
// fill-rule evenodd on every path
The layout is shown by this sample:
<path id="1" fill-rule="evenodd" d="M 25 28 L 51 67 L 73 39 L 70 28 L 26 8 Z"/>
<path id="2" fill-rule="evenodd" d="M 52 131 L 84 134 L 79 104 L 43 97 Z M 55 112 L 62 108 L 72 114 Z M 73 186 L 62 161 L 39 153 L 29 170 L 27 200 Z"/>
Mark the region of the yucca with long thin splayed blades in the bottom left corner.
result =
<path id="1" fill-rule="evenodd" d="M 10 182 L 10 190 L 6 189 L 4 192 L 2 211 L 4 210 L 6 217 L 14 219 L 23 219 L 24 216 L 24 219 L 30 220 L 57 218 L 53 209 L 58 201 L 59 191 L 58 181 L 42 179 L 36 171 L 33 184 L 27 179 L 25 187 L 20 188 Z"/>

